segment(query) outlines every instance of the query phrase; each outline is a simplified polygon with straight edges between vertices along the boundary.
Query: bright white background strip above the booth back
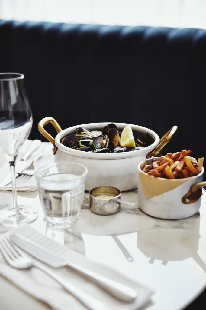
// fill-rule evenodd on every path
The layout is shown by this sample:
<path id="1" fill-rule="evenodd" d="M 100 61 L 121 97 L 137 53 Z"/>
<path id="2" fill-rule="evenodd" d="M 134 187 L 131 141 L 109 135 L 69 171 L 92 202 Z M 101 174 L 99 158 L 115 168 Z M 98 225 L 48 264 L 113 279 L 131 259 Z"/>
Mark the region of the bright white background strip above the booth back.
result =
<path id="1" fill-rule="evenodd" d="M 206 29 L 206 0 L 0 0 L 0 19 Z"/>

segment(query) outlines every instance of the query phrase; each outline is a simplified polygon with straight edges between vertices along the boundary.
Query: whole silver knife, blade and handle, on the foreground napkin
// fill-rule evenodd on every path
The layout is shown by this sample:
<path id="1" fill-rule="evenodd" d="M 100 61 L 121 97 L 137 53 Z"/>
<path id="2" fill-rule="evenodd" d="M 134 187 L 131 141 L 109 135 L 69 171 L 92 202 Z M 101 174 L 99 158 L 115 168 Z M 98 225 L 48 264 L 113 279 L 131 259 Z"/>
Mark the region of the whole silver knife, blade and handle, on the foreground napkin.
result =
<path id="1" fill-rule="evenodd" d="M 63 266 L 70 267 L 72 270 L 75 270 L 81 275 L 84 275 L 89 280 L 121 301 L 133 302 L 137 297 L 137 292 L 133 288 L 97 274 L 96 272 L 68 261 L 67 259 L 62 259 L 61 257 L 54 255 L 43 246 L 26 237 L 15 233 L 10 235 L 10 239 L 22 250 L 53 268 L 59 268 Z"/>

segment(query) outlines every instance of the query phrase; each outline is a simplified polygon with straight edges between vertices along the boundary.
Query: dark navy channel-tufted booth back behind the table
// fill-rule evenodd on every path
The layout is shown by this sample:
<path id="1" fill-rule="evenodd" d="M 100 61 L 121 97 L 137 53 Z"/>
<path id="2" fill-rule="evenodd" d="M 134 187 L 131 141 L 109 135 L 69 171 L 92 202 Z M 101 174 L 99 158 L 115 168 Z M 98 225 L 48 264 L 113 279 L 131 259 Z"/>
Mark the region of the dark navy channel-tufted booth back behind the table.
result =
<path id="1" fill-rule="evenodd" d="M 25 75 L 38 122 L 62 129 L 126 122 L 162 137 L 165 152 L 205 157 L 206 30 L 0 20 L 0 71 Z"/>

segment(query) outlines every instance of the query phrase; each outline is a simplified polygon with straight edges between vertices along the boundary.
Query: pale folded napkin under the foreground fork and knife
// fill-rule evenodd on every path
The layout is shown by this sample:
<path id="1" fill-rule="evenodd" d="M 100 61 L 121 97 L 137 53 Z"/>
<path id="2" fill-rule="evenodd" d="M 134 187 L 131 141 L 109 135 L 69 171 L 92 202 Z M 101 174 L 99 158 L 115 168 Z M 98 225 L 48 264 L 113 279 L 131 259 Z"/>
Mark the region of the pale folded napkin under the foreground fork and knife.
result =
<path id="1" fill-rule="evenodd" d="M 150 289 L 138 284 L 134 280 L 129 279 L 122 273 L 117 272 L 116 270 L 109 268 L 104 264 L 86 259 L 84 255 L 69 248 L 69 244 L 62 246 L 54 240 L 37 232 L 28 224 L 20 224 L 17 228 L 13 228 L 9 232 L 4 233 L 3 236 L 9 236 L 11 233 L 15 232 L 24 237 L 28 237 L 32 241 L 37 242 L 41 246 L 44 246 L 54 254 L 59 255 L 64 259 L 70 259 L 72 262 L 78 263 L 79 265 L 92 271 L 98 272 L 106 277 L 127 284 L 137 290 L 138 297 L 133 303 L 123 303 L 112 297 L 110 294 L 99 288 L 91 281 L 88 281 L 84 277 L 80 276 L 77 272 L 71 271 L 68 267 L 62 267 L 58 269 L 49 267 L 57 274 L 61 275 L 63 278 L 69 281 L 71 284 L 103 301 L 108 305 L 108 309 L 138 310 L 149 301 L 152 294 Z M 17 270 L 12 268 L 6 263 L 2 257 L 1 252 L 0 274 L 28 294 L 32 295 L 34 298 L 45 302 L 53 309 L 86 310 L 83 304 L 81 304 L 70 293 L 64 290 L 60 284 L 58 284 L 47 274 L 36 268 L 31 268 L 29 270 Z"/>

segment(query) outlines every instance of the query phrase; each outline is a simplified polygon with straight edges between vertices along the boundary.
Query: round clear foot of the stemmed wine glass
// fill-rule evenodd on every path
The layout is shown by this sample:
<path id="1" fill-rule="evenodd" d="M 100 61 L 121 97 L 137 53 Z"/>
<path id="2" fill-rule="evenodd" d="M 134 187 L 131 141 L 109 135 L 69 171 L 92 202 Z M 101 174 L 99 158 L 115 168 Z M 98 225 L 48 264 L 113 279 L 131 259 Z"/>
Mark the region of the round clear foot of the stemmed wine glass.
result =
<path id="1" fill-rule="evenodd" d="M 21 223 L 34 222 L 38 216 L 38 212 L 28 206 L 18 205 L 18 211 L 14 207 L 6 207 L 0 210 L 0 226 L 2 227 L 16 227 Z"/>

